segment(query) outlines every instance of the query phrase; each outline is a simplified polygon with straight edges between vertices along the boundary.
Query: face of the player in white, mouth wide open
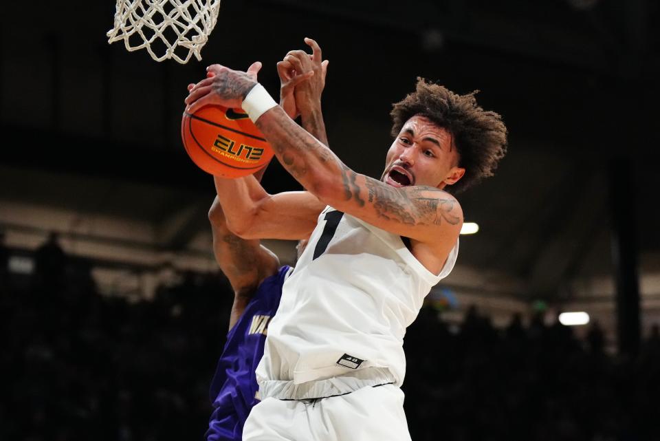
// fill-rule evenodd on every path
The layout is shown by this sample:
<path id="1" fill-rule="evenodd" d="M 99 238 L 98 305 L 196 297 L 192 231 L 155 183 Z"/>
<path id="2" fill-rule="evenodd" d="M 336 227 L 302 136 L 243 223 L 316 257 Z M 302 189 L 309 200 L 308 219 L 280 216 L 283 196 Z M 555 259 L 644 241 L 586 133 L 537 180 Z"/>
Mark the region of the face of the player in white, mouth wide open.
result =
<path id="1" fill-rule="evenodd" d="M 413 116 L 388 150 L 381 180 L 395 187 L 426 185 L 443 189 L 465 173 L 458 164 L 459 153 L 449 131 L 423 116 Z"/>

